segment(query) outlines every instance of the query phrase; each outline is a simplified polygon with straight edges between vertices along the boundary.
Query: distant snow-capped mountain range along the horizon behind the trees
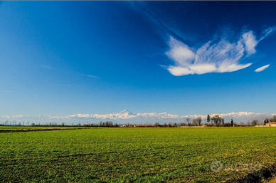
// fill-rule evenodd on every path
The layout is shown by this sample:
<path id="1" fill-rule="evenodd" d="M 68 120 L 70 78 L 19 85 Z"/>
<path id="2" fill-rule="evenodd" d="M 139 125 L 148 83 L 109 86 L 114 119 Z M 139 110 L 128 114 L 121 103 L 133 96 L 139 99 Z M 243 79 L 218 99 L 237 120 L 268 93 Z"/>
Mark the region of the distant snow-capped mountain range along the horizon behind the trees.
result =
<path id="1" fill-rule="evenodd" d="M 233 119 L 236 122 L 247 122 L 248 120 L 259 120 L 260 122 L 267 117 L 272 117 L 276 113 L 222 113 L 211 114 L 219 115 L 225 119 L 225 122 Z M 119 113 L 108 114 L 75 114 L 66 116 L 52 116 L 52 115 L 38 115 L 38 116 L 24 116 L 24 115 L 1 115 L 0 120 L 29 120 L 31 122 L 100 122 L 105 120 L 112 120 L 118 123 L 134 123 L 134 122 L 185 122 L 187 118 L 193 119 L 201 117 L 206 120 L 206 115 L 171 115 L 169 113 L 132 113 L 128 110 L 123 110 Z"/>

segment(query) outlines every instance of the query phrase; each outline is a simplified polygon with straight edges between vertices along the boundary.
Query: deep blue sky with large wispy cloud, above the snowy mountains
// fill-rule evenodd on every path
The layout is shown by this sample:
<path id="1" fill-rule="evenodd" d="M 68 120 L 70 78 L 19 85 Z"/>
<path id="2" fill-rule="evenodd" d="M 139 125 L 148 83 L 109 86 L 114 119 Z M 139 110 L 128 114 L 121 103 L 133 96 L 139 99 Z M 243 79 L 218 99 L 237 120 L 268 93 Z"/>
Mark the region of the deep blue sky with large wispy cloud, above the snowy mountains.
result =
<path id="1" fill-rule="evenodd" d="M 0 115 L 275 113 L 275 8 L 1 1 Z"/>

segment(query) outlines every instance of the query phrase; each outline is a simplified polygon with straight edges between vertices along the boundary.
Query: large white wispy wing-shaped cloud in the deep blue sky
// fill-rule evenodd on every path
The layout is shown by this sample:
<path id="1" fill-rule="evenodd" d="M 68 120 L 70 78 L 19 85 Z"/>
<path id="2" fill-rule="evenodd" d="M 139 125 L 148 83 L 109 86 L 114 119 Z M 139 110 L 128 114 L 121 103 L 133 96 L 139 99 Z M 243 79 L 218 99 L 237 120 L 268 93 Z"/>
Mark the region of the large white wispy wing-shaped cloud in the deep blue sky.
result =
<path id="1" fill-rule="evenodd" d="M 259 41 L 274 30 L 275 28 L 267 28 L 265 36 Z M 200 48 L 195 49 L 170 36 L 170 49 L 166 51 L 166 56 L 174 61 L 174 65 L 168 66 L 166 69 L 172 75 L 181 76 L 228 73 L 248 68 L 252 63 L 240 63 L 240 61 L 256 53 L 255 47 L 259 41 L 256 40 L 253 31 L 247 31 L 242 33 L 235 43 L 230 43 L 225 38 L 221 38 L 219 41 L 208 41 Z"/>

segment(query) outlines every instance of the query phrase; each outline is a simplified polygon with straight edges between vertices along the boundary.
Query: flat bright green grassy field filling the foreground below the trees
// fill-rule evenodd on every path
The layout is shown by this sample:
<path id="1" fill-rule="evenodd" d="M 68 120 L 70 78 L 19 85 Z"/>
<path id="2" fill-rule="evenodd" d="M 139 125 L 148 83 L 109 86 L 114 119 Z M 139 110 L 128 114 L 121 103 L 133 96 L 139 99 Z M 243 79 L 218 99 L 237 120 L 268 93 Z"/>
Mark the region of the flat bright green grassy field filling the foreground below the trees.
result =
<path id="1" fill-rule="evenodd" d="M 276 162 L 274 127 L 88 128 L 0 133 L 0 182 L 221 182 Z"/>

